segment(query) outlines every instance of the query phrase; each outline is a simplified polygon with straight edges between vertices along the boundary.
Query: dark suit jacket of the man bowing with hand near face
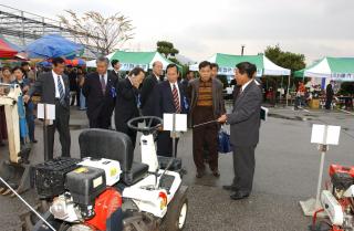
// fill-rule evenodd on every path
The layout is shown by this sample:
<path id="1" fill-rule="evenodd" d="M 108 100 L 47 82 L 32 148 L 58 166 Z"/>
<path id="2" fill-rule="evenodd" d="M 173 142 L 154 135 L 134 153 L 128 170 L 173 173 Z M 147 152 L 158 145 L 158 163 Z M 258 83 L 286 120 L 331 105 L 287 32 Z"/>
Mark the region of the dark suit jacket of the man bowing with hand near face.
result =
<path id="1" fill-rule="evenodd" d="M 117 82 L 117 98 L 115 103 L 115 126 L 118 132 L 128 134 L 127 122 L 139 116 L 137 97 L 139 90 L 135 88 L 129 78 Z"/>

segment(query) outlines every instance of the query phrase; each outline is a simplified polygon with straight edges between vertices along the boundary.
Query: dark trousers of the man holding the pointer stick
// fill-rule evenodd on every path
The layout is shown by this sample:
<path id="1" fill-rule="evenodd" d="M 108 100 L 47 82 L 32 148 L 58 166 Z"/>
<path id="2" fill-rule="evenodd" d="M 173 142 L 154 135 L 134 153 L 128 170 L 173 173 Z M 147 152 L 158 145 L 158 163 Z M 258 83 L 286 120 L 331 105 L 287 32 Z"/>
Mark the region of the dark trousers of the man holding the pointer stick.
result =
<path id="1" fill-rule="evenodd" d="M 254 149 L 256 146 L 241 147 L 233 146 L 233 187 L 242 192 L 252 191 L 254 175 Z"/>

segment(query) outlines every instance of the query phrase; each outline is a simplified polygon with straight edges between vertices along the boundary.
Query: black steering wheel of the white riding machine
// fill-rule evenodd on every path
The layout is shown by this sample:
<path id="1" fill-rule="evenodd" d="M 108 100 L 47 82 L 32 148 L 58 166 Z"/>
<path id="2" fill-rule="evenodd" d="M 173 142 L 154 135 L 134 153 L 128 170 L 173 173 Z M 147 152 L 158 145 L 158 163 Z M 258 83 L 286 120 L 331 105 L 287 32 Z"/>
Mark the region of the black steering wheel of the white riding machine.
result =
<path id="1" fill-rule="evenodd" d="M 138 127 L 137 124 L 145 120 L 145 126 L 144 127 Z M 158 130 L 158 128 L 163 125 L 163 119 L 157 116 L 139 116 L 132 118 L 127 122 L 128 128 L 136 130 L 136 132 L 142 132 L 143 134 L 152 134 L 155 130 Z"/>

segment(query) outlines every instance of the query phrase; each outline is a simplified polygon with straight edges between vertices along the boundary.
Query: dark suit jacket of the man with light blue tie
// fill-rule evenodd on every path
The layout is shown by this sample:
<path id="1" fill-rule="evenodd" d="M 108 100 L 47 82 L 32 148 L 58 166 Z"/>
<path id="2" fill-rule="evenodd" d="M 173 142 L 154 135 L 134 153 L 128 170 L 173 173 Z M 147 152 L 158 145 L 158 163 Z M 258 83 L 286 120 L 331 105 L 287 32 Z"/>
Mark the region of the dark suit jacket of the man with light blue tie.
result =
<path id="1" fill-rule="evenodd" d="M 65 87 L 65 108 L 70 109 L 70 86 L 69 77 L 62 75 Z M 34 82 L 33 86 L 28 92 L 28 95 L 32 96 L 34 93 L 41 95 L 41 103 L 55 104 L 55 83 L 52 72 L 44 72 L 40 74 Z"/>

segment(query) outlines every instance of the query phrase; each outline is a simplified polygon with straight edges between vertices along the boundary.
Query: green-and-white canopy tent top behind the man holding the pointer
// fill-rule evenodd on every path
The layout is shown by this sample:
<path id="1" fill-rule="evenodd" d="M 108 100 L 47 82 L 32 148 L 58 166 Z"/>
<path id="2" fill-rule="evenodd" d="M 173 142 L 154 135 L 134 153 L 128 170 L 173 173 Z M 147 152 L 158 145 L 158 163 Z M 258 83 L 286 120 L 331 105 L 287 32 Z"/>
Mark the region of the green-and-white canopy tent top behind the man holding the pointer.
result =
<path id="1" fill-rule="evenodd" d="M 263 54 L 259 55 L 233 55 L 217 53 L 208 59 L 209 62 L 217 63 L 219 65 L 220 75 L 233 75 L 236 64 L 241 62 L 250 62 L 257 66 L 257 76 L 275 75 L 284 76 L 290 75 L 289 69 L 283 69 L 275 63 L 271 62 Z M 189 66 L 191 71 L 198 71 L 198 64 Z"/>

